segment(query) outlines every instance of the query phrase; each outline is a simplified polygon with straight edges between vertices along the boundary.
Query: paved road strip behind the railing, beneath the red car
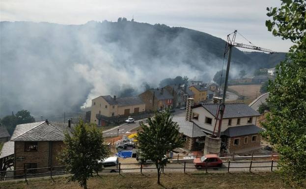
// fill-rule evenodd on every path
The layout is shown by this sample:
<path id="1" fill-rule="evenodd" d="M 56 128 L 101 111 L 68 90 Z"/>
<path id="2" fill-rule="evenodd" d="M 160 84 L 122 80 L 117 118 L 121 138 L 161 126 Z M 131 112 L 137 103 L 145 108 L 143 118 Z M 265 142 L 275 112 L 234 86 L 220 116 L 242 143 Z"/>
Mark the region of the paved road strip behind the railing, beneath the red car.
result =
<path id="1" fill-rule="evenodd" d="M 252 162 L 251 171 L 252 172 L 269 172 L 271 171 L 271 162 Z M 277 162 L 273 163 L 273 166 L 277 166 Z M 140 169 L 133 169 L 133 168 L 140 168 L 140 165 L 137 164 L 121 164 L 120 166 L 122 169 L 129 168 L 128 170 L 121 170 L 123 173 L 129 172 L 140 172 Z M 246 168 L 242 168 L 246 167 Z M 143 165 L 142 172 L 156 172 L 155 165 Z M 149 169 L 146 169 L 149 168 Z M 221 168 L 208 168 L 207 172 L 227 172 L 228 162 L 223 162 Z M 273 171 L 277 170 L 277 167 L 273 167 Z M 205 168 L 196 169 L 193 163 L 186 163 L 186 172 L 205 172 Z M 250 171 L 250 162 L 230 162 L 230 169 L 229 172 L 249 172 Z M 164 172 L 184 172 L 184 163 L 168 163 Z"/>

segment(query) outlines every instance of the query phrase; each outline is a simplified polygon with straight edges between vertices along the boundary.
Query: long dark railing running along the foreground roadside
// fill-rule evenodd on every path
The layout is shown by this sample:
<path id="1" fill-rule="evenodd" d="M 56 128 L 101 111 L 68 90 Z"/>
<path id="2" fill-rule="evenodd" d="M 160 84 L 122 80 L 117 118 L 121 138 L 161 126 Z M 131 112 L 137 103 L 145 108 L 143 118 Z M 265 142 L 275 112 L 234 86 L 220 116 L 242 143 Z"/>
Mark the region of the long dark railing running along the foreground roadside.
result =
<path id="1" fill-rule="evenodd" d="M 218 163 L 218 162 L 217 162 Z M 258 163 L 261 163 L 258 165 Z M 239 166 L 239 164 L 243 164 L 243 166 Z M 248 166 L 246 166 L 248 164 Z M 127 165 L 134 165 L 134 167 L 122 167 Z M 237 166 L 238 165 L 238 166 Z M 193 162 L 171 162 L 167 163 L 167 165 L 162 169 L 163 173 L 165 170 L 170 170 L 169 172 L 177 172 L 175 170 L 181 169 L 182 171 L 179 172 L 188 172 L 188 170 L 205 170 L 206 173 L 208 173 L 209 170 L 222 170 L 223 172 L 230 172 L 230 170 L 234 170 L 234 172 L 251 172 L 252 168 L 269 168 L 269 169 L 263 169 L 261 171 L 268 172 L 273 171 L 274 168 L 278 168 L 280 166 L 277 165 L 277 161 L 245 161 L 245 162 L 223 162 L 223 166 L 211 166 L 210 162 L 206 162 L 204 164 L 201 164 L 201 167 L 195 167 L 195 164 Z M 39 170 L 47 169 L 46 172 L 39 172 Z M 58 169 L 58 170 L 55 170 Z M 144 170 L 151 170 L 156 169 L 155 163 L 118 163 L 116 166 L 111 169 L 115 170 L 119 174 L 123 170 L 128 170 L 126 172 L 135 172 L 131 170 L 139 170 L 139 173 L 143 173 Z M 172 170 L 171 170 L 172 169 Z M 240 169 L 240 170 L 239 170 Z M 104 169 L 102 173 L 107 170 L 110 171 L 110 169 Z M 6 178 L 24 178 L 25 181 L 29 177 L 39 177 L 39 176 L 52 176 L 60 175 L 60 174 L 70 174 L 69 172 L 65 171 L 65 166 L 51 166 L 51 167 L 39 167 L 39 168 L 25 168 L 25 169 L 18 169 L 18 170 L 8 170 L 8 171 L 0 171 L 0 173 L 4 172 L 4 176 L 1 176 L 1 180 L 5 180 Z M 7 176 L 7 173 L 13 172 L 14 175 Z M 16 174 L 18 172 L 22 172 L 22 174 Z M 37 172 L 37 173 L 36 173 Z"/>

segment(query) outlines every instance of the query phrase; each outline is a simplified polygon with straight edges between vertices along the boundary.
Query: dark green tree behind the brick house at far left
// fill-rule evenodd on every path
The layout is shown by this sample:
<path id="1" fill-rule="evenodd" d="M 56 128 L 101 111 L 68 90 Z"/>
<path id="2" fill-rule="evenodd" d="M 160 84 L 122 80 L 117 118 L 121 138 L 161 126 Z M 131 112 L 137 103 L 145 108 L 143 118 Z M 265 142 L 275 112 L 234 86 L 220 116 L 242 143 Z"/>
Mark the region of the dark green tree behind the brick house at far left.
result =
<path id="1" fill-rule="evenodd" d="M 1 124 L 4 125 L 10 135 L 13 134 L 16 125 L 35 122 L 33 116 L 28 110 L 18 111 L 15 115 L 7 115 L 1 119 Z"/>

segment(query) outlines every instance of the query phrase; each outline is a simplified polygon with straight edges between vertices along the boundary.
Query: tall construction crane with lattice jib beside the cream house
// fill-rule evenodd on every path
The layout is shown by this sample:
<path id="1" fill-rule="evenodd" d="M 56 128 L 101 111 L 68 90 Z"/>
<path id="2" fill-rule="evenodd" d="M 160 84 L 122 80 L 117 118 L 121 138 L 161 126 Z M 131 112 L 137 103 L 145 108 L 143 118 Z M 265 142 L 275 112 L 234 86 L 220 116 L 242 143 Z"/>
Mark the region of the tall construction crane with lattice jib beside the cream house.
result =
<path id="1" fill-rule="evenodd" d="M 224 110 L 225 110 L 225 96 L 226 96 L 226 89 L 227 89 L 227 80 L 228 80 L 228 73 L 229 73 L 229 66 L 230 66 L 230 58 L 231 58 L 231 55 L 232 55 L 233 47 L 240 47 L 240 48 L 245 48 L 245 49 L 262 51 L 262 52 L 267 52 L 267 53 L 270 53 L 270 54 L 276 53 L 276 52 L 274 52 L 272 50 L 269 50 L 269 49 L 264 49 L 264 48 L 261 48 L 261 47 L 253 46 L 253 44 L 248 39 L 246 39 L 243 35 L 241 35 L 241 36 L 243 38 L 245 38 L 252 45 L 245 45 L 245 44 L 242 44 L 242 43 L 236 43 L 235 40 L 236 40 L 237 33 L 239 35 L 241 35 L 237 30 L 234 30 L 234 32 L 227 35 L 227 39 L 226 39 L 224 57 L 225 57 L 225 54 L 227 54 L 227 52 L 228 52 L 227 67 L 226 67 L 225 81 L 224 81 L 224 87 L 223 87 L 222 102 L 221 102 L 221 104 L 220 104 L 220 106 L 217 110 L 217 115 L 216 115 L 216 118 L 218 119 L 219 113 L 220 113 L 220 120 L 219 120 L 217 135 L 215 133 L 217 121 L 215 123 L 213 137 L 220 138 L 220 134 L 221 134 L 221 125 L 222 125 L 222 119 L 223 119 L 223 114 L 224 114 Z"/>

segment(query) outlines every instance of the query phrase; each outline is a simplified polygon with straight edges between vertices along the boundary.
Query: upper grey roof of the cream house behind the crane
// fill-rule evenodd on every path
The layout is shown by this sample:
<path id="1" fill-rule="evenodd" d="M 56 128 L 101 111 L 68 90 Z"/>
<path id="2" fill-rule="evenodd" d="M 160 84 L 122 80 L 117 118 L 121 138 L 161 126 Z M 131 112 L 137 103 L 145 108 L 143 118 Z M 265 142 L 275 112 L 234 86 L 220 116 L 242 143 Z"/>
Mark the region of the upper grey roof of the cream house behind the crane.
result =
<path id="1" fill-rule="evenodd" d="M 216 117 L 217 109 L 220 105 L 215 103 L 205 103 L 203 105 L 196 105 L 192 108 L 203 107 L 209 111 L 214 117 Z M 234 117 L 251 117 L 260 115 L 257 111 L 250 108 L 248 105 L 243 103 L 227 103 L 225 104 L 225 110 L 223 118 L 234 118 Z M 219 117 L 220 118 L 220 114 Z"/>

